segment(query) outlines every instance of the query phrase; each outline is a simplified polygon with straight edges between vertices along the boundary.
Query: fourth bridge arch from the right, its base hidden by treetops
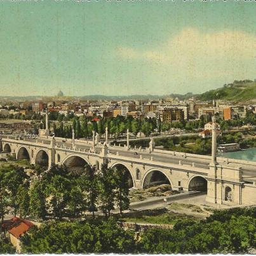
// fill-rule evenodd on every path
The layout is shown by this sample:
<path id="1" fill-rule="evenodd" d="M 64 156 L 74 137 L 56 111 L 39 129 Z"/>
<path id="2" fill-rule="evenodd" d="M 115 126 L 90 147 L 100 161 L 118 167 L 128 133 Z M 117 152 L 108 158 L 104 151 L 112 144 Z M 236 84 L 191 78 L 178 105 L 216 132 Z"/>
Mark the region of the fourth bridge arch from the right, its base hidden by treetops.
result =
<path id="1" fill-rule="evenodd" d="M 72 154 L 62 161 L 62 165 L 64 165 L 69 172 L 82 173 L 84 171 L 84 166 L 90 165 L 90 162 L 82 156 Z"/>

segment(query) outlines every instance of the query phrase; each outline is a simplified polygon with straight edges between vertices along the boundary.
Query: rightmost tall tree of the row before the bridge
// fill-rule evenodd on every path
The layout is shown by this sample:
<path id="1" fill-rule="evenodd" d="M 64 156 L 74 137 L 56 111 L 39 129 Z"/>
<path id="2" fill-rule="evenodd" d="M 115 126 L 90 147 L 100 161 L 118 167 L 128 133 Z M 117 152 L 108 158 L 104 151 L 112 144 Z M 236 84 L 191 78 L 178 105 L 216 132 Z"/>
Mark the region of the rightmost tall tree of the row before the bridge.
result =
<path id="1" fill-rule="evenodd" d="M 115 201 L 118 205 L 120 214 L 123 213 L 123 210 L 129 208 L 130 199 L 129 187 L 128 187 L 128 174 L 126 173 L 125 168 L 117 167 L 114 170 L 114 180 L 115 180 Z"/>

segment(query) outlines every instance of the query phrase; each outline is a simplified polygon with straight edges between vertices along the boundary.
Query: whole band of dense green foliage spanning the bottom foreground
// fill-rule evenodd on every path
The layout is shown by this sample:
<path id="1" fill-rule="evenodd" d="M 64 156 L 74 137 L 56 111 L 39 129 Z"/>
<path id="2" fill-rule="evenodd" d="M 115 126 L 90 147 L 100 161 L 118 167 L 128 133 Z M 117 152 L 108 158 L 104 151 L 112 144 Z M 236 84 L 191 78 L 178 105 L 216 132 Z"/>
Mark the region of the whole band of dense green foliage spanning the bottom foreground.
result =
<path id="1" fill-rule="evenodd" d="M 148 229 L 135 240 L 114 219 L 50 222 L 22 238 L 25 253 L 248 253 L 256 246 L 256 208 L 219 210 L 174 229 Z"/>

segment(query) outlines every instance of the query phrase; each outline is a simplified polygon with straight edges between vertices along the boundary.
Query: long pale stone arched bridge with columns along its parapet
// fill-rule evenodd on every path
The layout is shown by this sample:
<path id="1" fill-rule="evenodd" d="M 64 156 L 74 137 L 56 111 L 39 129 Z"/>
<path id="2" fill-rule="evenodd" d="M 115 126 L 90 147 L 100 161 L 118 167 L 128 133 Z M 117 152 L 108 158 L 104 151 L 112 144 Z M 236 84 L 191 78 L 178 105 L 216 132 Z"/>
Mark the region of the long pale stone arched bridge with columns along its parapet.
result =
<path id="1" fill-rule="evenodd" d="M 213 118 L 212 156 L 164 151 L 155 148 L 151 139 L 147 149 L 131 148 L 129 132 L 125 146 L 111 145 L 106 130 L 105 142 L 51 137 L 48 125 L 37 138 L 1 135 L 0 150 L 16 159 L 27 159 L 32 165 L 51 168 L 65 165 L 68 170 L 83 171 L 84 165 L 100 168 L 123 168 L 128 184 L 146 188 L 170 184 L 173 190 L 205 191 L 206 201 L 225 205 L 256 204 L 256 163 L 216 156 L 215 119 Z"/>

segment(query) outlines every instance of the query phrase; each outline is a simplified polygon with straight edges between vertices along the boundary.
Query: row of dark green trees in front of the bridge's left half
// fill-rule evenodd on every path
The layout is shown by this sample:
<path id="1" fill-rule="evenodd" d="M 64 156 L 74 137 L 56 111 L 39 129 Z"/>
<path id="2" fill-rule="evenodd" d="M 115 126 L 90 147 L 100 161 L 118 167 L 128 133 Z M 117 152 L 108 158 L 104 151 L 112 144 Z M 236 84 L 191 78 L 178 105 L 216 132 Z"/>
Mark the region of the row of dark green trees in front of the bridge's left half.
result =
<path id="1" fill-rule="evenodd" d="M 7 213 L 20 217 L 46 219 L 81 217 L 98 210 L 110 216 L 114 205 L 120 213 L 130 204 L 126 170 L 102 165 L 86 165 L 83 172 L 71 172 L 65 166 L 48 171 L 34 168 L 30 175 L 24 168 L 9 165 L 0 168 L 0 219 Z"/>

